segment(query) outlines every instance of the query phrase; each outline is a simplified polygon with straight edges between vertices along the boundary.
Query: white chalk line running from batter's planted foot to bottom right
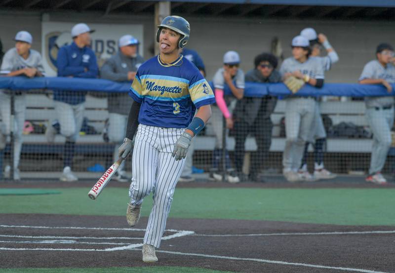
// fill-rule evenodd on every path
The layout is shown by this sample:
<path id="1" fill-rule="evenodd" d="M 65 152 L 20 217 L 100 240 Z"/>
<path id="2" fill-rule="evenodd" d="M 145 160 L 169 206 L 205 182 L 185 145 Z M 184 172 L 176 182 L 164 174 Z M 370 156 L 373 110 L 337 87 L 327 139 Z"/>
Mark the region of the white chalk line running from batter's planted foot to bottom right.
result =
<path id="1" fill-rule="evenodd" d="M 134 250 L 136 250 L 136 249 L 134 249 Z M 266 264 L 286 265 L 286 266 L 301 266 L 301 267 L 310 267 L 310 268 L 334 269 L 334 270 L 351 271 L 351 272 L 389 273 L 389 272 L 366 270 L 366 269 L 344 268 L 344 267 L 330 267 L 330 266 L 321 266 L 321 265 L 304 264 L 304 263 L 290 263 L 290 262 L 283 262 L 283 261 L 254 259 L 254 258 L 238 258 L 238 257 L 217 256 L 217 255 L 207 255 L 207 254 L 198 254 L 198 253 L 183 253 L 183 252 L 165 251 L 165 250 L 156 250 L 156 252 L 168 253 L 168 254 L 174 254 L 174 255 L 183 255 L 183 256 L 198 256 L 198 257 L 215 258 L 215 259 L 226 259 L 226 260 L 237 260 L 237 261 L 252 261 L 252 262 L 260 262 L 260 263 L 266 263 Z"/>

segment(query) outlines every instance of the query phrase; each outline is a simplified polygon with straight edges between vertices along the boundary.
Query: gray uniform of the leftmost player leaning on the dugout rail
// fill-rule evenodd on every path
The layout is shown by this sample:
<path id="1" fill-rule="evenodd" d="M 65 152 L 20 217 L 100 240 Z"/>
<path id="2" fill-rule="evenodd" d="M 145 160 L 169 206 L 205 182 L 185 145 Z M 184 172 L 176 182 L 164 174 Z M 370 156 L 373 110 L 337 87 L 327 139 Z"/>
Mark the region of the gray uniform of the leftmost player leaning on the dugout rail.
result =
<path id="1" fill-rule="evenodd" d="M 2 71 L 17 71 L 23 68 L 36 68 L 42 74 L 44 74 L 44 67 L 42 66 L 41 55 L 36 50 L 30 49 L 29 57 L 25 60 L 22 58 L 16 48 L 9 49 L 1 63 Z M 2 89 L 0 91 L 0 100 L 1 100 L 1 117 L 2 121 L 5 124 L 6 134 L 10 134 L 11 128 L 11 98 L 10 95 L 7 94 L 7 91 Z M 25 123 L 25 113 L 26 113 L 26 94 L 22 92 L 17 92 L 15 95 L 15 119 L 14 119 L 14 136 L 15 136 L 15 149 L 14 149 L 14 168 L 17 168 L 19 165 L 19 159 L 21 155 L 22 149 L 22 132 L 23 126 Z"/>

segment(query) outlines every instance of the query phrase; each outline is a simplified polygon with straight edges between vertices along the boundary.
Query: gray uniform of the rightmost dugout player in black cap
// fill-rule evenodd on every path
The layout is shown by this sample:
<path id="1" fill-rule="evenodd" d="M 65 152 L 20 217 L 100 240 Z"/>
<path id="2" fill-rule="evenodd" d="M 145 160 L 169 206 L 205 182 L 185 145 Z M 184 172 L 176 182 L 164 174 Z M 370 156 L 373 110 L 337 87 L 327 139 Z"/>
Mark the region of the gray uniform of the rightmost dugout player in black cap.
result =
<path id="1" fill-rule="evenodd" d="M 395 83 L 395 67 L 383 67 L 377 60 L 368 62 L 359 80 L 385 79 Z M 394 124 L 394 97 L 365 97 L 366 118 L 373 132 L 372 156 L 369 174 L 375 174 L 384 167 L 391 147 L 391 128 Z"/>

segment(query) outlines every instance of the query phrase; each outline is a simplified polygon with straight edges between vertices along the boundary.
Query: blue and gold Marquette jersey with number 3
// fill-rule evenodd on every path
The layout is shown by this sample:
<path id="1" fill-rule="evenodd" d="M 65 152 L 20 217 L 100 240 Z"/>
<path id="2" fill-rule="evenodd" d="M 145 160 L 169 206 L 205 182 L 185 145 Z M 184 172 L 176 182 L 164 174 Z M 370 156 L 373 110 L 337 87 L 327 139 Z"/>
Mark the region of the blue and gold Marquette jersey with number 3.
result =
<path id="1" fill-rule="evenodd" d="M 155 56 L 143 63 L 129 95 L 141 103 L 139 123 L 186 128 L 197 108 L 215 102 L 210 85 L 196 66 L 181 55 L 172 66 Z"/>

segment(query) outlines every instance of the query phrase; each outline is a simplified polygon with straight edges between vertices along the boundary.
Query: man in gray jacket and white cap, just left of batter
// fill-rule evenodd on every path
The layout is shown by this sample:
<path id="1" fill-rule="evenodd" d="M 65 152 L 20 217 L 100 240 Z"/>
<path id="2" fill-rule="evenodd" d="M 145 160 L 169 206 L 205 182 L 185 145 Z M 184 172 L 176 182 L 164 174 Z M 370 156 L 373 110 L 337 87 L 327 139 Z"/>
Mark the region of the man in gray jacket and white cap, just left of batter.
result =
<path id="1" fill-rule="evenodd" d="M 119 41 L 119 51 L 108 59 L 101 68 L 101 78 L 114 81 L 131 81 L 136 76 L 137 69 L 144 62 L 143 57 L 137 53 L 139 41 L 131 35 L 122 36 Z M 110 93 L 108 97 L 109 128 L 108 137 L 116 143 L 114 161 L 118 159 L 118 148 L 123 143 L 127 123 L 127 115 L 130 109 L 130 99 L 126 93 Z M 114 179 L 119 182 L 127 182 L 126 172 L 123 170 L 124 161 L 118 167 Z"/>

